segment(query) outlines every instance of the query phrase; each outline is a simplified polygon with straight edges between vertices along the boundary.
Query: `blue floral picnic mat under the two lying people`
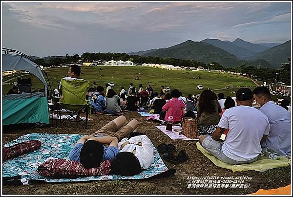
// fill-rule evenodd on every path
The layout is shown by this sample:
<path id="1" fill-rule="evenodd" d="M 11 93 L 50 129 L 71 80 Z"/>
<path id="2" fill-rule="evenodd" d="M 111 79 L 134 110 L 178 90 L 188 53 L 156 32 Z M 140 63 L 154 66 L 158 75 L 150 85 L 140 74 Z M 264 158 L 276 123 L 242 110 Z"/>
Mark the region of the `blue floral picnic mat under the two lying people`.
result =
<path id="1" fill-rule="evenodd" d="M 90 180 L 115 180 L 115 179 L 144 179 L 154 175 L 159 175 L 169 169 L 164 164 L 161 156 L 153 146 L 155 162 L 139 175 L 120 176 L 120 175 L 103 175 L 103 176 L 82 176 L 78 178 L 49 178 L 41 176 L 36 170 L 43 162 L 52 158 L 68 159 L 70 150 L 73 148 L 82 135 L 80 134 L 47 134 L 47 133 L 30 133 L 13 140 L 5 147 L 28 140 L 40 140 L 41 149 L 22 154 L 21 156 L 8 159 L 2 163 L 2 177 L 14 177 L 21 175 L 21 178 L 27 180 L 42 180 L 45 182 L 72 182 L 72 181 L 90 181 Z"/>

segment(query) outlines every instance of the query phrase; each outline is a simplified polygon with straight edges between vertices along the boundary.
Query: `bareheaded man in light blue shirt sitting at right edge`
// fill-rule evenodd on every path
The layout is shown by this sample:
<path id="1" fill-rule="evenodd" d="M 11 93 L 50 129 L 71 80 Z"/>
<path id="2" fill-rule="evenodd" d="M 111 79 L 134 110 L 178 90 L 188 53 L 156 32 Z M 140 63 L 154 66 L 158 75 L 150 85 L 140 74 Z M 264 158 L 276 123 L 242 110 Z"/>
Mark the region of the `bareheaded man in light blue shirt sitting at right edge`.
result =
<path id="1" fill-rule="evenodd" d="M 253 91 L 256 102 L 261 106 L 259 111 L 265 114 L 270 123 L 267 139 L 261 144 L 262 148 L 271 147 L 280 156 L 291 153 L 291 117 L 290 113 L 272 101 L 270 89 L 259 86 Z"/>

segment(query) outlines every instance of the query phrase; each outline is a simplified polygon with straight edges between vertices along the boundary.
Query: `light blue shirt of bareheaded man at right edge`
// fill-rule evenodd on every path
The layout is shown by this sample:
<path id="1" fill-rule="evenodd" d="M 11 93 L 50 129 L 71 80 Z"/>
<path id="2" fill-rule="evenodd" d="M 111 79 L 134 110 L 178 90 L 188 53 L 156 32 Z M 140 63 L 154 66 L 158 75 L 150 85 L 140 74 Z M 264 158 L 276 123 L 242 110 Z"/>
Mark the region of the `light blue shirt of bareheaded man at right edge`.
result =
<path id="1" fill-rule="evenodd" d="M 287 156 L 291 153 L 291 117 L 290 113 L 274 102 L 265 103 L 260 109 L 268 116 L 270 132 L 267 140 L 261 144 L 263 148 L 271 147 L 280 156 Z"/>

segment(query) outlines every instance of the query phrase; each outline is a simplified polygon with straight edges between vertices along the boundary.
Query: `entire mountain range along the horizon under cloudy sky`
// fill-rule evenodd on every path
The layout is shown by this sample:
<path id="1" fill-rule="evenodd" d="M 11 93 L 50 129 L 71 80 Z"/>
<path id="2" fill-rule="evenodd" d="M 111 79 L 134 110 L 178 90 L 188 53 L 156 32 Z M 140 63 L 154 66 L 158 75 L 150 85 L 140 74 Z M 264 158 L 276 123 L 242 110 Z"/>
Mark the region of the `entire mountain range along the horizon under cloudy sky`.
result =
<path id="1" fill-rule="evenodd" d="M 152 57 L 172 57 L 189 59 L 197 62 L 218 62 L 224 67 L 235 67 L 243 64 L 268 68 L 279 68 L 282 62 L 290 58 L 290 40 L 284 44 L 269 47 L 275 43 L 253 44 L 239 38 L 233 42 L 218 39 L 205 39 L 200 42 L 188 40 L 167 48 L 150 49 L 146 51 L 129 52 L 129 55 Z"/>

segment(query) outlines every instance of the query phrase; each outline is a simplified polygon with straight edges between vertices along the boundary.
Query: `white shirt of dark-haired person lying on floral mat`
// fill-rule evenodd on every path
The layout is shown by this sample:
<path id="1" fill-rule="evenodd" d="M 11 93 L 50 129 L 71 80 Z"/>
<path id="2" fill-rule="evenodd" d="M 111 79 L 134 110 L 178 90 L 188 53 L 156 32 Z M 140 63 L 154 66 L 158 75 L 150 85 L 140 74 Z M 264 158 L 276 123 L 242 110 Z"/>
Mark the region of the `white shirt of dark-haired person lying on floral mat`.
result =
<path id="1" fill-rule="evenodd" d="M 121 142 L 118 143 L 118 149 L 120 149 L 122 144 L 126 141 L 128 141 L 130 144 L 125 145 L 120 152 L 132 153 L 136 149 L 134 155 L 138 158 L 139 163 L 143 169 L 147 169 L 150 164 L 154 163 L 155 158 L 152 143 L 146 135 L 134 136 L 128 140 L 127 137 L 123 138 Z M 139 142 L 142 143 L 142 146 L 137 145 Z"/>

